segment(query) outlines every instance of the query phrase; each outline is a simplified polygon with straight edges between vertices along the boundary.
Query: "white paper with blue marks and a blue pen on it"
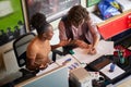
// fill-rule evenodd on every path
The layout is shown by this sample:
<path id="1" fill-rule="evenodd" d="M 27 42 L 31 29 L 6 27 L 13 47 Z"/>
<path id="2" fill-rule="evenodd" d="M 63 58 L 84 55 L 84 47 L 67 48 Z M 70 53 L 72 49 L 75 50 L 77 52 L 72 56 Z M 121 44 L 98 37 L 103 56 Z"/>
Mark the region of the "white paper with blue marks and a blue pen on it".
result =
<path id="1" fill-rule="evenodd" d="M 68 61 L 66 64 L 63 64 L 69 59 L 71 60 Z M 73 70 L 81 66 L 81 64 L 76 61 L 76 59 L 73 58 L 71 54 L 67 54 L 61 59 L 56 60 L 56 63 L 58 63 L 59 65 L 66 65 L 69 70 Z"/>

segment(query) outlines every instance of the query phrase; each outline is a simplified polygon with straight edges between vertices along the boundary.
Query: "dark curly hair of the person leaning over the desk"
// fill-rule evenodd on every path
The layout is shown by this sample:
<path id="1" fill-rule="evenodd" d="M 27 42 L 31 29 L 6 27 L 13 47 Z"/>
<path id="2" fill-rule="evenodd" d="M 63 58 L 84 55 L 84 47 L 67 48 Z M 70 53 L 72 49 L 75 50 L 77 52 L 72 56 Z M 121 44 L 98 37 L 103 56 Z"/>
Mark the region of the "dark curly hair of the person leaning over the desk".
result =
<path id="1" fill-rule="evenodd" d="M 79 26 L 83 20 L 90 20 L 87 10 L 82 5 L 72 7 L 68 13 L 68 21 L 70 22 L 70 24 Z"/>

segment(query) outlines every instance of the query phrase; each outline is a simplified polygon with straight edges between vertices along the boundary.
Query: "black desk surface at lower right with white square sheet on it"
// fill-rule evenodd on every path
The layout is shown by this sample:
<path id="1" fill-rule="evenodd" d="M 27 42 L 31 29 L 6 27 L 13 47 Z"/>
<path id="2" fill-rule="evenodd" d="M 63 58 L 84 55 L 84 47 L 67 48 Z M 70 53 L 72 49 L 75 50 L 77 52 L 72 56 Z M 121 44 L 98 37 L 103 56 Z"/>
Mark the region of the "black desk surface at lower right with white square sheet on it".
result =
<path id="1" fill-rule="evenodd" d="M 116 61 L 115 70 L 114 72 L 109 72 L 112 61 Z M 109 83 L 116 84 L 131 74 L 130 58 L 127 58 L 126 61 L 127 62 L 121 64 L 119 62 L 119 58 L 116 58 L 114 55 L 103 55 L 90 63 L 88 66 L 94 71 L 100 72 Z"/>

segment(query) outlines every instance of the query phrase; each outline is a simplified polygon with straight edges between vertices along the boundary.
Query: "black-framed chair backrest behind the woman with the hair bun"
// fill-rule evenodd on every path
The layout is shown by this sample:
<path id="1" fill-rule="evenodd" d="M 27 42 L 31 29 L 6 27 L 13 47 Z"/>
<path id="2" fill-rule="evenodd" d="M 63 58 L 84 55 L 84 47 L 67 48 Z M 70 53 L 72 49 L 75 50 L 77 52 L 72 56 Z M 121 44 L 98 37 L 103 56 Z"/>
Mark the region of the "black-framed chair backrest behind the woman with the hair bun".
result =
<path id="1" fill-rule="evenodd" d="M 13 42 L 14 54 L 20 67 L 24 66 L 26 63 L 26 48 L 29 41 L 35 37 L 34 33 L 27 33 Z"/>

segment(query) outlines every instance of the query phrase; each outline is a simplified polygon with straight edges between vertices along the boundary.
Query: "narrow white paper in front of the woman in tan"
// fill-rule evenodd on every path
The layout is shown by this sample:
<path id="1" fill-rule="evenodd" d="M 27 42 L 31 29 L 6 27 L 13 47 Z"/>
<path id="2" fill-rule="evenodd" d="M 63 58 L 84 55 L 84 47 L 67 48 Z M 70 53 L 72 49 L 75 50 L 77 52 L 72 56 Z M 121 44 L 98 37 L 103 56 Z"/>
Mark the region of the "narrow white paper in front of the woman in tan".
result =
<path id="1" fill-rule="evenodd" d="M 51 71 L 51 70 L 53 70 L 53 69 L 57 69 L 57 67 L 59 67 L 59 65 L 58 65 L 57 63 L 51 63 L 50 65 L 48 65 L 47 69 L 45 69 L 45 70 L 43 70 L 43 71 L 39 71 L 39 72 L 36 74 L 36 76 L 39 76 L 39 75 L 41 75 L 41 74 L 45 74 L 45 73 L 47 73 L 47 72 L 49 72 L 49 71 Z"/>

